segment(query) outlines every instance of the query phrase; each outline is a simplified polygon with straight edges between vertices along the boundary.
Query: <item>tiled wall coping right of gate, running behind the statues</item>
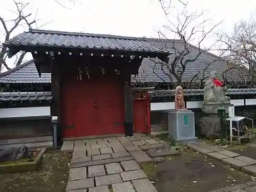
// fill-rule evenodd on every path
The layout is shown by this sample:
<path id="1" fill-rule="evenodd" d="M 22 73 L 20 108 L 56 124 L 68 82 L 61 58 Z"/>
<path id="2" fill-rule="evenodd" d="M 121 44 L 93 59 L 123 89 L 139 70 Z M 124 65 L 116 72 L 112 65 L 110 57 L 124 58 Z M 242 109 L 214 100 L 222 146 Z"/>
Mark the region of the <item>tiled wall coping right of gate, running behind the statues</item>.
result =
<path id="1" fill-rule="evenodd" d="M 200 96 L 204 95 L 203 89 L 183 90 L 185 96 Z M 158 90 L 150 91 L 151 97 L 174 97 L 175 90 Z M 228 89 L 226 95 L 256 95 L 256 89 Z"/>

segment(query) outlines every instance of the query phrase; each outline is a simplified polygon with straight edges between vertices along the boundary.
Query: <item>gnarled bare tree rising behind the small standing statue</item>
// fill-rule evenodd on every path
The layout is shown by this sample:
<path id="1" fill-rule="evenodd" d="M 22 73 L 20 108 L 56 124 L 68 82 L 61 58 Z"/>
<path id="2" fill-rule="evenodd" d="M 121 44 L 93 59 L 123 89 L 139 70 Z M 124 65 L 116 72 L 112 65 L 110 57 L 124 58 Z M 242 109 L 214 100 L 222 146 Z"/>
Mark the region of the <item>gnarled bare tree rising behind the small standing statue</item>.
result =
<path id="1" fill-rule="evenodd" d="M 204 18 L 204 12 L 190 12 L 187 9 L 188 3 L 180 2 L 183 6 L 181 13 L 178 13 L 174 18 L 169 18 L 168 16 L 172 12 L 168 12 L 169 9 L 173 9 L 170 5 L 172 2 L 166 3 L 162 0 L 159 0 L 161 7 L 167 16 L 167 24 L 163 26 L 164 30 L 167 32 L 159 31 L 159 38 L 164 39 L 162 46 L 166 47 L 166 40 L 168 40 L 168 48 L 173 51 L 173 54 L 170 57 L 170 62 L 158 62 L 161 64 L 161 71 L 169 77 L 170 81 L 173 81 L 173 77 L 177 80 L 177 84 L 181 84 L 182 76 L 186 70 L 186 66 L 190 62 L 195 62 L 199 56 L 204 52 L 202 50 L 202 42 L 210 35 L 217 26 L 221 24 L 212 25 L 212 27 L 206 29 L 205 26 L 208 25 L 210 19 Z M 168 39 L 167 33 L 172 33 L 174 39 Z M 189 42 L 196 41 L 197 44 L 197 54 L 191 54 L 191 45 Z M 181 46 L 182 45 L 182 46 Z M 192 56 L 193 55 L 193 56 Z M 217 58 L 219 59 L 219 58 Z M 195 79 L 200 79 L 200 82 L 207 78 L 205 72 L 211 63 L 208 63 L 204 69 L 198 69 L 198 73 L 195 74 L 188 82 L 193 82 Z"/>

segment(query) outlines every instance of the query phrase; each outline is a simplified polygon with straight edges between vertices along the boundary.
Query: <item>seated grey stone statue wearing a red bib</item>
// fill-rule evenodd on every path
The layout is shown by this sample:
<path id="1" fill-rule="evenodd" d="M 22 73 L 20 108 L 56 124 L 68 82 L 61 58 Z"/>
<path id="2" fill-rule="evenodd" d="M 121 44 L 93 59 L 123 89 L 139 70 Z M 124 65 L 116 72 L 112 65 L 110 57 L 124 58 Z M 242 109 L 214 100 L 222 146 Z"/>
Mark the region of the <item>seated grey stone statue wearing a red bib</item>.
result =
<path id="1" fill-rule="evenodd" d="M 210 78 L 204 85 L 204 103 L 230 103 L 230 97 L 226 97 L 224 86 L 217 77 L 217 71 L 210 72 Z"/>

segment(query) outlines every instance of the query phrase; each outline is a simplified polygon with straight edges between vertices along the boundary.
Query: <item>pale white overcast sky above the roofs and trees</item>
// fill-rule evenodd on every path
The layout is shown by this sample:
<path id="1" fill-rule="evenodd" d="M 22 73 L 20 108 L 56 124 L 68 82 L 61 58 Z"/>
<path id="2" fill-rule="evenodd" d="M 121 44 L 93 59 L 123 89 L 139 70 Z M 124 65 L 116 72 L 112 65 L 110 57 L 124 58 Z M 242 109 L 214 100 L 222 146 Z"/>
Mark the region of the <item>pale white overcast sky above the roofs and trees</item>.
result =
<path id="1" fill-rule="evenodd" d="M 158 37 L 156 31 L 166 24 L 166 16 L 157 0 L 79 0 L 81 4 L 76 5 L 69 3 L 69 0 L 58 1 L 71 9 L 61 7 L 54 0 L 23 2 L 30 2 L 27 12 L 35 13 L 38 9 L 37 18 L 40 20 L 37 26 L 48 23 L 40 29 Z M 0 5 L 0 15 L 6 20 L 15 16 L 12 12 L 15 10 L 12 0 L 0 0 Z M 175 14 L 179 9 L 181 8 L 176 6 L 172 10 Z M 231 31 L 234 23 L 249 17 L 256 10 L 256 1 L 190 0 L 189 10 L 206 10 L 206 16 L 211 18 L 212 24 L 224 20 L 219 30 Z M 1 24 L 0 30 L 3 41 L 4 30 Z M 13 35 L 24 30 L 28 30 L 27 27 L 19 27 Z M 172 34 L 166 35 L 173 38 Z M 204 44 L 207 46 L 207 41 Z M 8 65 L 12 67 L 11 61 L 8 61 Z"/>

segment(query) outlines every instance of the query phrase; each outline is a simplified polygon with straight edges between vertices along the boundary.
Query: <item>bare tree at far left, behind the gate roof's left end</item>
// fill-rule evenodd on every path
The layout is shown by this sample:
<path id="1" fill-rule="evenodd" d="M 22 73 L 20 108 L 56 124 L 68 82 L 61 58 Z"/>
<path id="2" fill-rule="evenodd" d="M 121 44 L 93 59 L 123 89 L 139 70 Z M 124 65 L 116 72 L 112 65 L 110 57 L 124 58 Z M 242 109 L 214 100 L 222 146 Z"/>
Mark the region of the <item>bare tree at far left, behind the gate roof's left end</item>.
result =
<path id="1" fill-rule="evenodd" d="M 13 9 L 11 12 L 15 13 L 15 17 L 12 19 L 7 19 L 4 17 L 4 15 L 1 15 L 0 13 L 0 26 L 3 26 L 4 29 L 4 42 L 6 40 L 9 40 L 12 36 L 12 34 L 17 30 L 19 27 L 31 27 L 32 25 L 36 25 L 36 22 L 38 19 L 36 19 L 37 16 L 37 11 L 33 14 L 32 12 L 29 12 L 29 3 L 23 3 L 23 2 L 18 2 L 16 0 L 13 1 Z M 9 27 L 11 26 L 11 27 Z M 22 63 L 24 57 L 25 57 L 25 52 L 20 52 L 16 54 L 16 61 L 15 65 L 18 66 L 20 63 Z M 9 70 L 10 67 L 8 67 L 6 63 L 6 58 L 7 58 L 7 47 L 3 45 L 3 42 L 0 41 L 0 70 L 3 69 L 3 66 Z"/>

